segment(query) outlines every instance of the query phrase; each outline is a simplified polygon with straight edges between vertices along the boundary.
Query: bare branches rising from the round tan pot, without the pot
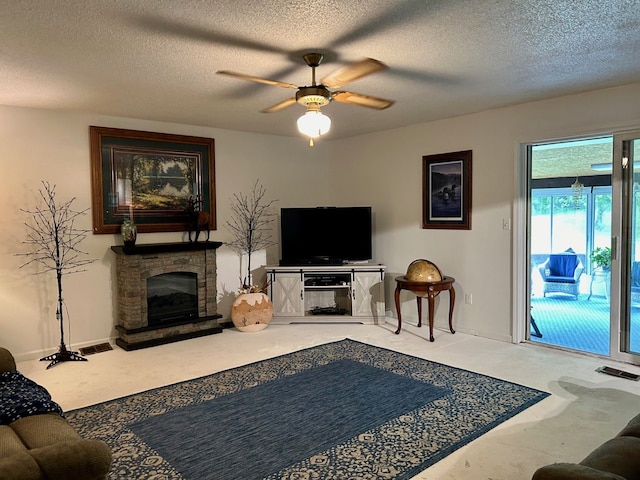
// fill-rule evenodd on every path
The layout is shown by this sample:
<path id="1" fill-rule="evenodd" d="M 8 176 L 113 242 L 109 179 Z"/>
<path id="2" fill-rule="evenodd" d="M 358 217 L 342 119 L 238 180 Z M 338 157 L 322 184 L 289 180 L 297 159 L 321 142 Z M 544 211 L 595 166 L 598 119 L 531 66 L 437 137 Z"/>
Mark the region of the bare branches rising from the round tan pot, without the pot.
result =
<path id="1" fill-rule="evenodd" d="M 231 202 L 231 218 L 226 222 L 233 234 L 233 240 L 227 245 L 237 250 L 240 255 L 247 255 L 247 276 L 242 279 L 242 288 L 250 289 L 251 255 L 258 250 L 275 245 L 271 240 L 271 227 L 275 214 L 269 208 L 277 200 L 265 200 L 267 191 L 258 183 L 253 184 L 251 193 L 233 195 Z M 241 260 L 242 262 L 242 256 Z"/>

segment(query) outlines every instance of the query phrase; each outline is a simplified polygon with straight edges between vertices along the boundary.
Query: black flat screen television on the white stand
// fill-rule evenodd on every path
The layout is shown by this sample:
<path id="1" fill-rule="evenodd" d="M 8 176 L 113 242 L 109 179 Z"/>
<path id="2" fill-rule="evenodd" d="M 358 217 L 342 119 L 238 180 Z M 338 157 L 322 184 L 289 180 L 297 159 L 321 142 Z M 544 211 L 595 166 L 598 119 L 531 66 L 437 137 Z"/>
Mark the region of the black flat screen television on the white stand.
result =
<path id="1" fill-rule="evenodd" d="M 341 265 L 372 257 L 371 207 L 280 210 L 280 265 Z"/>

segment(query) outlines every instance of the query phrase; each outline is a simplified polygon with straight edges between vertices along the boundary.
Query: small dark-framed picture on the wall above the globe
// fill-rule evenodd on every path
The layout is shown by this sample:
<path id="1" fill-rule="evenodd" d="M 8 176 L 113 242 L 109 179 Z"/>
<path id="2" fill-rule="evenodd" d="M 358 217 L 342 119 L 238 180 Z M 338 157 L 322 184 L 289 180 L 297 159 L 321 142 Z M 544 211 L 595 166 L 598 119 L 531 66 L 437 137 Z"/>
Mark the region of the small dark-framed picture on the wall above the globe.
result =
<path id="1" fill-rule="evenodd" d="M 422 157 L 422 228 L 471 230 L 472 151 Z"/>

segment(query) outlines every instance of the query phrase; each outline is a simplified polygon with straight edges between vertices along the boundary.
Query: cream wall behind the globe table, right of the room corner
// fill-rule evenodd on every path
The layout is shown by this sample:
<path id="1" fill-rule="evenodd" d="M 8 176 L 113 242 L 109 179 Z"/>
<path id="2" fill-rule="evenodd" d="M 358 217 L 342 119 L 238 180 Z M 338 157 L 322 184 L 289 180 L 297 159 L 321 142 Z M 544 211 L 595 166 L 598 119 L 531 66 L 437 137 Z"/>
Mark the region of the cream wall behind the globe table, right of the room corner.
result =
<path id="1" fill-rule="evenodd" d="M 428 105 L 425 106 L 428 108 Z M 514 239 L 520 143 L 640 128 L 640 84 L 588 92 L 332 142 L 333 198 L 371 204 L 376 260 L 388 266 L 387 310 L 395 315 L 394 277 L 417 258 L 456 278 L 457 330 L 511 341 Z M 472 230 L 423 230 L 422 156 L 473 151 Z M 523 234 L 523 232 L 520 232 Z M 522 237 L 524 238 L 524 236 Z M 473 303 L 464 304 L 472 294 Z M 417 318 L 403 292 L 403 317 Z M 436 324 L 445 327 L 446 294 Z"/>

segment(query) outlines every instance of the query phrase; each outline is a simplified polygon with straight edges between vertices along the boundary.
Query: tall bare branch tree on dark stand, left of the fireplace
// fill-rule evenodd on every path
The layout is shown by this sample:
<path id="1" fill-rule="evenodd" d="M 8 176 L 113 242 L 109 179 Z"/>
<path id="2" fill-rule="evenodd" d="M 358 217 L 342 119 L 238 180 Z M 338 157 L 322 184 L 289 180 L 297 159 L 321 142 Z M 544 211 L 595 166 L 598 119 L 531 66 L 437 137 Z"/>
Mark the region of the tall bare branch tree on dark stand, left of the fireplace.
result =
<path id="1" fill-rule="evenodd" d="M 56 203 L 56 186 L 48 182 L 42 182 L 42 189 L 38 192 L 43 200 L 43 206 L 37 206 L 34 210 L 24 210 L 31 215 L 31 222 L 25 222 L 28 229 L 27 240 L 24 244 L 31 246 L 28 253 L 19 253 L 31 257 L 31 260 L 20 268 L 36 263 L 44 267 L 37 274 L 54 271 L 58 286 L 58 306 L 56 319 L 60 322 L 60 348 L 58 352 L 48 355 L 40 360 L 51 361 L 47 368 L 53 367 L 64 361 L 86 361 L 77 352 L 67 349 L 64 343 L 64 315 L 62 311 L 62 277 L 72 273 L 83 272 L 85 265 L 94 262 L 95 259 L 82 258 L 87 253 L 78 249 L 78 245 L 87 236 L 89 230 L 76 228 L 76 219 L 86 214 L 89 210 L 72 210 L 71 204 L 75 197 L 64 203 Z"/>

